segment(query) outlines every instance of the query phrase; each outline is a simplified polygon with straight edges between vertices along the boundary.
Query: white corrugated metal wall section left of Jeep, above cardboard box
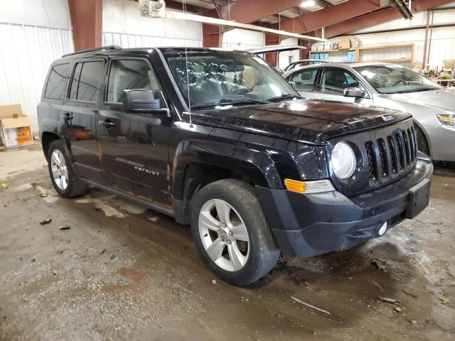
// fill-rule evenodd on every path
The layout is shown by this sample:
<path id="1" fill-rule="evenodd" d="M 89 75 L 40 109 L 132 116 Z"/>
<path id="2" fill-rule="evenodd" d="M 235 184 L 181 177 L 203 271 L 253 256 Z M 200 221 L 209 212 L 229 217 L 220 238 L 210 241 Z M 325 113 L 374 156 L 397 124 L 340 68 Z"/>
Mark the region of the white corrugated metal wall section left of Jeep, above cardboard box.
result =
<path id="1" fill-rule="evenodd" d="M 20 103 L 38 129 L 36 106 L 49 65 L 73 50 L 71 30 L 0 23 L 0 104 Z"/>

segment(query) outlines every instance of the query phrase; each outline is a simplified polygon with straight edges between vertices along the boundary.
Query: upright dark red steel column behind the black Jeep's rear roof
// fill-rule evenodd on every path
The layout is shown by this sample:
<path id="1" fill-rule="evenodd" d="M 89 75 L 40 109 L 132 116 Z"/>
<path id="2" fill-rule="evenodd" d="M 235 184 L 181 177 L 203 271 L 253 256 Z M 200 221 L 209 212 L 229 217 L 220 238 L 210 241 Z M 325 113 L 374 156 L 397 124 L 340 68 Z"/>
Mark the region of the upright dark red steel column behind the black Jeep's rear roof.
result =
<path id="1" fill-rule="evenodd" d="M 102 45 L 102 0 L 68 0 L 76 51 Z"/>

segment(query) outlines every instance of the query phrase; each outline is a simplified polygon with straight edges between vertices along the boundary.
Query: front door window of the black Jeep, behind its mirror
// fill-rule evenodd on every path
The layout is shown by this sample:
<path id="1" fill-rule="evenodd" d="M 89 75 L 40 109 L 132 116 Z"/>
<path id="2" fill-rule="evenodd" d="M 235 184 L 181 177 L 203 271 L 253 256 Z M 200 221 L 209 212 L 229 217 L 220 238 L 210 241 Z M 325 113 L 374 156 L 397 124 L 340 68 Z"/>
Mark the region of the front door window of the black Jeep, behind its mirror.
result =
<path id="1" fill-rule="evenodd" d="M 122 103 L 123 90 L 146 89 L 159 97 L 155 73 L 144 60 L 112 60 L 107 82 L 107 102 Z"/>

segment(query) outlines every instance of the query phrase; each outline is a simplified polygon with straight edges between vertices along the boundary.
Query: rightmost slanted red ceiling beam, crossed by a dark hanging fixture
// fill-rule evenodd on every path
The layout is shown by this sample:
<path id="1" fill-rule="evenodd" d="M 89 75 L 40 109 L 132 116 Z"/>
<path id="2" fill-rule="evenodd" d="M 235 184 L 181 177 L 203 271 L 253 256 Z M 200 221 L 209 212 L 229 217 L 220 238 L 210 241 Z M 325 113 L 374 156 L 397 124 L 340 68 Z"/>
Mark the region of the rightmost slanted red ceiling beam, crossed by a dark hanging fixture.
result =
<path id="1" fill-rule="evenodd" d="M 413 10 L 412 13 L 427 11 L 427 9 L 432 9 L 452 1 L 454 0 L 414 0 L 412 1 L 412 6 L 415 10 Z M 380 23 L 400 18 L 402 18 L 402 16 L 400 12 L 395 9 L 395 7 L 381 9 L 380 11 L 358 16 L 357 18 L 351 18 L 343 21 L 342 23 L 336 23 L 326 27 L 326 38 L 341 36 L 342 34 L 358 31 L 363 28 L 379 25 Z"/>

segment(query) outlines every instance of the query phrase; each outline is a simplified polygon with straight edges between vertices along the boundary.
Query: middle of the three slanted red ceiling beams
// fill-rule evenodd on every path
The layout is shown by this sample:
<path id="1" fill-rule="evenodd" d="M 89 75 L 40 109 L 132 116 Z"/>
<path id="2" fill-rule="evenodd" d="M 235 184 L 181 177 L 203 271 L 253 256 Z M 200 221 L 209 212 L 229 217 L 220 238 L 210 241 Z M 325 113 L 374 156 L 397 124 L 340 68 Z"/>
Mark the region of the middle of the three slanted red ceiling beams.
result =
<path id="1" fill-rule="evenodd" d="M 350 0 L 320 11 L 305 13 L 300 18 L 286 19 L 282 21 L 280 29 L 292 33 L 306 33 L 376 11 L 379 8 L 378 4 L 367 0 Z M 274 28 L 278 28 L 278 25 L 274 24 Z"/>

